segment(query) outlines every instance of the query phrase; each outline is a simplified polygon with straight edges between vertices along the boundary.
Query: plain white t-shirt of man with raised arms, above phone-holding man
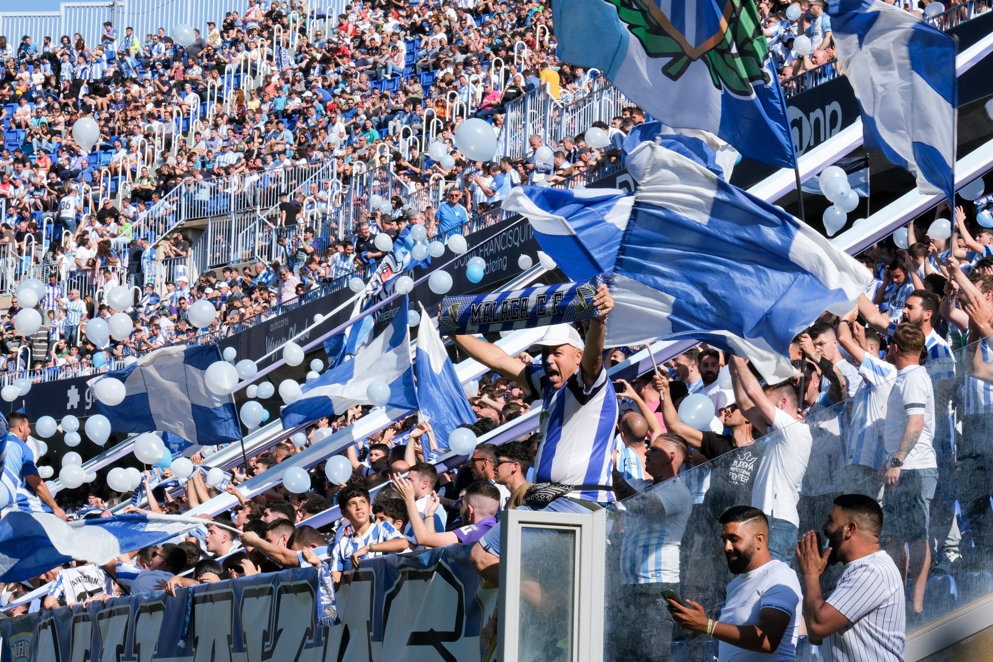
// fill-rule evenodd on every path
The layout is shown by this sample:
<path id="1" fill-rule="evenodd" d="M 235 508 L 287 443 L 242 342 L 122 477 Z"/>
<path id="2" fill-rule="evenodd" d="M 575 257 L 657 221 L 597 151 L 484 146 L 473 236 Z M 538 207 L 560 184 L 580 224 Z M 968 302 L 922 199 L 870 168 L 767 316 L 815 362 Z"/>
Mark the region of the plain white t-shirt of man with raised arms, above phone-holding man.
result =
<path id="1" fill-rule="evenodd" d="M 752 484 L 753 506 L 769 517 L 799 527 L 796 502 L 812 444 L 806 423 L 776 410 L 766 453 Z"/>

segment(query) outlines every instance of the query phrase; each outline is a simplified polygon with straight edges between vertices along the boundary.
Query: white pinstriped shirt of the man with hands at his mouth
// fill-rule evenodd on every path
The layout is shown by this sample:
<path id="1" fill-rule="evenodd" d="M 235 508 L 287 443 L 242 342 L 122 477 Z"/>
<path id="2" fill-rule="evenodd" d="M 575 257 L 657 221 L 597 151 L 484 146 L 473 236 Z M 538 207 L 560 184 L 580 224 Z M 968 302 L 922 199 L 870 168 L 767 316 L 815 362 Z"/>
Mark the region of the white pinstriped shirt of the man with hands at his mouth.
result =
<path id="1" fill-rule="evenodd" d="M 885 552 L 846 564 L 826 602 L 851 624 L 824 640 L 820 646 L 824 660 L 903 660 L 907 639 L 905 599 L 900 571 Z"/>

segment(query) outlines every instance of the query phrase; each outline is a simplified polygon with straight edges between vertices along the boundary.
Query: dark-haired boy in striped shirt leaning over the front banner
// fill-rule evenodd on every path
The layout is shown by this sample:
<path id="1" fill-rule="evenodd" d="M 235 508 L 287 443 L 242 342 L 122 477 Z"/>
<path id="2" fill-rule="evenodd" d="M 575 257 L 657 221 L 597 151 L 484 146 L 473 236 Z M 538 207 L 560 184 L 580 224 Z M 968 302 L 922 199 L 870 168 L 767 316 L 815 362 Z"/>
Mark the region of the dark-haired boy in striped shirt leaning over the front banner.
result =
<path id="1" fill-rule="evenodd" d="M 362 559 L 409 549 L 407 539 L 389 522 L 373 524 L 369 493 L 364 487 L 347 485 L 338 493 L 338 504 L 352 525 L 353 533 L 342 536 L 331 552 L 329 565 L 336 585 L 343 573 L 357 570 Z"/>

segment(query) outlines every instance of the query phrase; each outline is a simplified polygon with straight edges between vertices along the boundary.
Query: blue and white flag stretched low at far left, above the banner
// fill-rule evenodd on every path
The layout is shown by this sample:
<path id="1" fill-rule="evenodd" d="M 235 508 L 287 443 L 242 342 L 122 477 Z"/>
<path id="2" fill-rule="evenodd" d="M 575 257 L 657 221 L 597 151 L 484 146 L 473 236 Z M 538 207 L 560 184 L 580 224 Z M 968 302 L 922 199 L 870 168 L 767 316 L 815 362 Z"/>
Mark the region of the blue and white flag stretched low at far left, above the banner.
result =
<path id="1" fill-rule="evenodd" d="M 198 517 L 143 513 L 64 522 L 14 511 L 0 520 L 0 581 L 31 579 L 71 561 L 105 564 L 203 524 Z"/>

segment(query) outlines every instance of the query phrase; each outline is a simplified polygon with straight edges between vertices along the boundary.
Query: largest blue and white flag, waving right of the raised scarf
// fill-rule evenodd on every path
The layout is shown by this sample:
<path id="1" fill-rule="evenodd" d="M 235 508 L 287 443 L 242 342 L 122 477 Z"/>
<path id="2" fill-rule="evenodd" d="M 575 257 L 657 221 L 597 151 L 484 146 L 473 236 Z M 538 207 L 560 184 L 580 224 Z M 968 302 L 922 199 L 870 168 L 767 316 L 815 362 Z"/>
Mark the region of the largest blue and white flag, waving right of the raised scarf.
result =
<path id="1" fill-rule="evenodd" d="M 614 268 L 607 344 L 707 342 L 778 382 L 789 342 L 851 310 L 871 274 L 808 226 L 657 145 Z"/>

